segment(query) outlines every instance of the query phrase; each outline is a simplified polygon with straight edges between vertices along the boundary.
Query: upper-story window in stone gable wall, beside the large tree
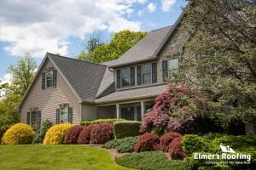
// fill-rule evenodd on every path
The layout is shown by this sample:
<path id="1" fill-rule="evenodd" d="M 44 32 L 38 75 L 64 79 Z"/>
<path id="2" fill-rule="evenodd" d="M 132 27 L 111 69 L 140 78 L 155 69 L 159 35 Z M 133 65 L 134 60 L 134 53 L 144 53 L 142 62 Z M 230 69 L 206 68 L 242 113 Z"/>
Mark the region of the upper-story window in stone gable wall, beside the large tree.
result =
<path id="1" fill-rule="evenodd" d="M 168 59 L 162 62 L 163 81 L 173 79 L 172 72 L 178 71 L 178 59 Z"/>

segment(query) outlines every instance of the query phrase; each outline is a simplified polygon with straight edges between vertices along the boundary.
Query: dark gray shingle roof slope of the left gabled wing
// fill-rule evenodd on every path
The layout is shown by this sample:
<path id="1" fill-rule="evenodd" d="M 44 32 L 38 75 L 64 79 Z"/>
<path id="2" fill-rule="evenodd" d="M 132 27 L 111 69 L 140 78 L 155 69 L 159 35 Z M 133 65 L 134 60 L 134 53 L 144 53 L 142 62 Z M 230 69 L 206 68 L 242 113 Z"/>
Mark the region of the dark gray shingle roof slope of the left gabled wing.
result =
<path id="1" fill-rule="evenodd" d="M 107 66 L 55 54 L 48 53 L 47 55 L 62 72 L 80 99 L 83 101 L 96 99 Z"/>

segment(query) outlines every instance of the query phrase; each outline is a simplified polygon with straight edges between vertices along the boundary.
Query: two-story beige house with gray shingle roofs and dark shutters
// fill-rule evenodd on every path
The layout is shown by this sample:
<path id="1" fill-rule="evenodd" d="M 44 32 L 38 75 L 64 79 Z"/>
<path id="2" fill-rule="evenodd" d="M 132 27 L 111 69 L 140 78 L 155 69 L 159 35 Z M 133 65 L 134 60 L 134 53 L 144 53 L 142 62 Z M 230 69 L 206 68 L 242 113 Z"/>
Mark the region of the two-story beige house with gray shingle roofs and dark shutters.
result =
<path id="1" fill-rule="evenodd" d="M 47 53 L 20 102 L 20 122 L 39 129 L 54 123 L 97 118 L 143 120 L 154 98 L 177 71 L 188 33 L 180 26 L 150 31 L 119 59 L 94 64 Z"/>

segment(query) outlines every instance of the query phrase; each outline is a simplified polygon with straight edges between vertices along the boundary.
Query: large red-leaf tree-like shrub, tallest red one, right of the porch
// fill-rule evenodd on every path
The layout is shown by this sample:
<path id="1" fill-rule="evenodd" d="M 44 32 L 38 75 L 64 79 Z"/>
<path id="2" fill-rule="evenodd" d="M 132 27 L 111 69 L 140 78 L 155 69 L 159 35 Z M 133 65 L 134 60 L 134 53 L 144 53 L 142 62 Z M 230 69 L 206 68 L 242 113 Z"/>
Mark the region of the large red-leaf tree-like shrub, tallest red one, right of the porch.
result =
<path id="1" fill-rule="evenodd" d="M 140 132 L 179 132 L 184 122 L 193 120 L 198 97 L 181 85 L 169 84 L 154 99 L 152 110 L 144 115 Z"/>

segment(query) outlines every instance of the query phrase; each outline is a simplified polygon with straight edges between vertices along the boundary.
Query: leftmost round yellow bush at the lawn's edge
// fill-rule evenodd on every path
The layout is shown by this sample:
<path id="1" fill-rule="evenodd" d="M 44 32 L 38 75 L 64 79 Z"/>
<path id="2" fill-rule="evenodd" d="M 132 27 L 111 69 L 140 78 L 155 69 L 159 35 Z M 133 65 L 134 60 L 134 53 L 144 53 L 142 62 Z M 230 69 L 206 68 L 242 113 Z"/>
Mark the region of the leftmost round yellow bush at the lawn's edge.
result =
<path id="1" fill-rule="evenodd" d="M 2 144 L 31 144 L 35 134 L 31 126 L 17 123 L 3 134 Z"/>

